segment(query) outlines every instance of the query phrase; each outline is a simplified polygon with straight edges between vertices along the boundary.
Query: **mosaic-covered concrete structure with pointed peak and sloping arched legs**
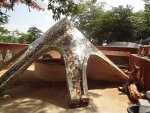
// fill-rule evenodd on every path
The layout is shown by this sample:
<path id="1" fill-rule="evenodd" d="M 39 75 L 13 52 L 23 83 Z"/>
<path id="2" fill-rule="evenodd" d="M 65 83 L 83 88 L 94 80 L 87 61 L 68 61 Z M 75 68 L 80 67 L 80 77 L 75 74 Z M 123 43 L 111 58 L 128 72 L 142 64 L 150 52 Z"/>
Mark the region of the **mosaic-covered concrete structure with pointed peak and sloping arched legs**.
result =
<path id="1" fill-rule="evenodd" d="M 64 58 L 71 105 L 89 102 L 86 69 L 91 54 L 98 56 L 101 65 L 107 67 L 108 71 L 111 70 L 114 77 L 117 78 L 116 82 L 128 79 L 127 75 L 64 18 L 34 41 L 19 60 L 2 75 L 0 78 L 1 91 L 13 83 L 35 58 L 48 52 L 52 47 L 57 48 Z"/>

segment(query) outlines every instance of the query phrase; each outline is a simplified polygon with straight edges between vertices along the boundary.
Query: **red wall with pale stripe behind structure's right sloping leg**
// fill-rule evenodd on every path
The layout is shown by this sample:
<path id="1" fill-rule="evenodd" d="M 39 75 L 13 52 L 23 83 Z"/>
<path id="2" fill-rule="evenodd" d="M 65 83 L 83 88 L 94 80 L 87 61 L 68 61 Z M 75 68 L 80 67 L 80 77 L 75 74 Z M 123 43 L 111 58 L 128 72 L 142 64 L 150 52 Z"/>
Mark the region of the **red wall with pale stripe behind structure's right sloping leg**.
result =
<path id="1" fill-rule="evenodd" d="M 138 53 L 138 48 L 97 46 L 112 62 L 120 68 L 129 68 L 129 56 Z"/>

